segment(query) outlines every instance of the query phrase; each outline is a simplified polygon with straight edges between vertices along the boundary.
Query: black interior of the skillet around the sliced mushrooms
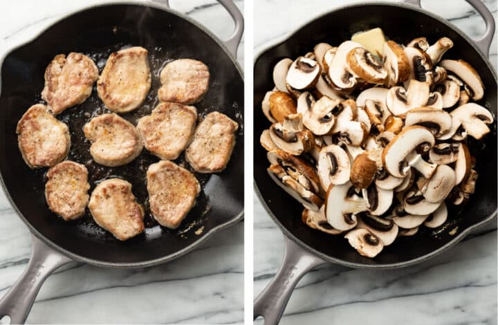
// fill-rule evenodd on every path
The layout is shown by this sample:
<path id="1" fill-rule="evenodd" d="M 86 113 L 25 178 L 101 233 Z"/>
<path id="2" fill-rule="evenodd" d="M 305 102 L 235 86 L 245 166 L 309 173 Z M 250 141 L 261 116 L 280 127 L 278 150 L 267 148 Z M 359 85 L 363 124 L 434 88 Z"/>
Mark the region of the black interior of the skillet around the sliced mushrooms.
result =
<path id="1" fill-rule="evenodd" d="M 254 71 L 254 168 L 255 184 L 273 219 L 279 223 L 284 232 L 307 245 L 315 254 L 338 263 L 350 266 L 381 267 L 392 264 L 402 265 L 427 254 L 432 254 L 449 243 L 466 228 L 479 223 L 493 214 L 497 209 L 497 133 L 496 122 L 492 133 L 485 140 L 470 143 L 470 151 L 477 158 L 477 189 L 470 204 L 461 208 L 449 206 L 448 222 L 433 231 L 422 230 L 413 237 L 401 237 L 386 247 L 375 259 L 360 256 L 349 246 L 342 236 L 331 236 L 312 230 L 301 221 L 302 206 L 277 187 L 266 172 L 269 166 L 266 151 L 259 144 L 261 131 L 270 125 L 261 112 L 261 100 L 266 91 L 273 89 L 273 66 L 284 57 L 295 58 L 313 51 L 315 44 L 324 41 L 340 44 L 350 39 L 353 33 L 380 27 L 386 37 L 398 43 L 407 44 L 415 37 L 425 36 L 432 44 L 439 37 L 450 37 L 454 48 L 445 54 L 445 58 L 465 59 L 479 72 L 486 93 L 478 103 L 486 106 L 496 117 L 497 82 L 484 59 L 457 31 L 423 12 L 389 4 L 367 4 L 342 8 L 311 21 L 300 28 L 282 44 L 277 44 L 258 57 Z M 454 234 L 450 234 L 456 230 Z"/>

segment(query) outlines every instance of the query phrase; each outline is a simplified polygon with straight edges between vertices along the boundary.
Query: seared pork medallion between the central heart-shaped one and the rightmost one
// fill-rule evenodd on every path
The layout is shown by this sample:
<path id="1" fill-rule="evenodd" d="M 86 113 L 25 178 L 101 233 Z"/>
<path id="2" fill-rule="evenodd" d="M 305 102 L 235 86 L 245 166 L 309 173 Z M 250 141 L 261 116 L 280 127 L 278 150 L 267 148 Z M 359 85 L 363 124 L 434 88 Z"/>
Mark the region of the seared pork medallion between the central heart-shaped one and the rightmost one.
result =
<path id="1" fill-rule="evenodd" d="M 196 121 L 194 106 L 163 102 L 138 120 L 137 129 L 147 150 L 161 159 L 175 160 L 189 144 Z"/>

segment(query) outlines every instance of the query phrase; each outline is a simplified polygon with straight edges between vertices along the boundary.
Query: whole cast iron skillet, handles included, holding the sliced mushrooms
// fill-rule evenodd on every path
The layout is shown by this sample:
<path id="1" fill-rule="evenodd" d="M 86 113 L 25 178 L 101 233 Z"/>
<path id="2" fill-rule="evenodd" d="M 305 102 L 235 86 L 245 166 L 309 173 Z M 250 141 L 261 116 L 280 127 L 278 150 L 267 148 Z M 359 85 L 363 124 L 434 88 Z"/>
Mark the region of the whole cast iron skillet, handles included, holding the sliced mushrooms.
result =
<path id="1" fill-rule="evenodd" d="M 445 54 L 445 58 L 465 59 L 476 68 L 486 85 L 485 97 L 479 101 L 479 104 L 490 109 L 496 117 L 497 77 L 486 59 L 495 22 L 483 3 L 479 0 L 467 1 L 486 21 L 486 34 L 475 43 L 448 21 L 421 9 L 419 0 L 409 1 L 418 6 L 403 3 L 368 3 L 340 8 L 314 19 L 290 37 L 264 50 L 255 60 L 255 189 L 266 211 L 279 225 L 286 238 L 282 267 L 255 300 L 254 315 L 263 316 L 265 324 L 279 322 L 297 281 L 305 272 L 317 265 L 331 262 L 351 268 L 371 269 L 410 266 L 447 250 L 461 241 L 470 230 L 491 221 L 496 216 L 496 122 L 492 125 L 492 133 L 488 134 L 483 142 L 470 143 L 472 155 L 477 158 L 476 169 L 481 175 L 470 204 L 450 210 L 448 222 L 441 228 L 434 231 L 419 231 L 416 236 L 396 239 L 375 259 L 360 256 L 342 236 L 331 236 L 304 225 L 301 221 L 302 205 L 270 179 L 266 171 L 269 164 L 266 150 L 259 144 L 259 135 L 270 125 L 261 112 L 261 100 L 266 91 L 273 89 L 271 73 L 279 59 L 302 55 L 313 50 L 313 46 L 320 41 L 340 44 L 355 32 L 375 27 L 382 28 L 387 37 L 403 44 L 420 36 L 427 37 L 431 44 L 439 37 L 450 37 L 454 41 L 454 48 Z M 450 235 L 450 230 L 454 228 L 457 228 L 457 234 Z"/>

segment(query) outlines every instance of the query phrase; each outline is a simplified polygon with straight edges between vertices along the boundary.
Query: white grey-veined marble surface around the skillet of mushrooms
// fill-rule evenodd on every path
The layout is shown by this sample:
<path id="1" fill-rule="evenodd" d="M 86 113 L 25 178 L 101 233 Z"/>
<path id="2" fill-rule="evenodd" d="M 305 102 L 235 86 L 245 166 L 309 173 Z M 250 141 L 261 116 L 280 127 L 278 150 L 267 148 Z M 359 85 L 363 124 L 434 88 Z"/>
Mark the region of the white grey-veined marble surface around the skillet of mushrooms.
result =
<path id="1" fill-rule="evenodd" d="M 363 0 L 361 2 L 367 2 Z M 349 0 L 257 0 L 256 52 L 276 38 Z M 358 1 L 356 1 L 358 2 Z M 497 1 L 485 1 L 496 17 Z M 484 24 L 464 1 L 422 1 L 478 37 Z M 278 12 L 278 15 L 275 15 Z M 490 59 L 497 66 L 497 45 Z M 282 263 L 283 236 L 255 196 L 255 297 Z M 263 324 L 257 319 L 255 324 Z M 295 289 L 280 324 L 497 324 L 497 232 L 465 239 L 445 254 L 401 270 L 353 270 L 326 264 L 305 275 Z"/>

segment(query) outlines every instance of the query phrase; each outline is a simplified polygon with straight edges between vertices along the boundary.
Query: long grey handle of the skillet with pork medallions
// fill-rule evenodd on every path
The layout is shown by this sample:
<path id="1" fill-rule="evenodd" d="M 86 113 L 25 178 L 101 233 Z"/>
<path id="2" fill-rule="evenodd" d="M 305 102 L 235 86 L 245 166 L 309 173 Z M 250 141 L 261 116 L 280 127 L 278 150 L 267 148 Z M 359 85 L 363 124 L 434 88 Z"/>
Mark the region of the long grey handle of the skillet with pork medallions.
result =
<path id="1" fill-rule="evenodd" d="M 0 300 L 0 319 L 9 316 L 10 324 L 24 324 L 45 279 L 71 261 L 33 236 L 33 253 L 26 270 Z"/>

